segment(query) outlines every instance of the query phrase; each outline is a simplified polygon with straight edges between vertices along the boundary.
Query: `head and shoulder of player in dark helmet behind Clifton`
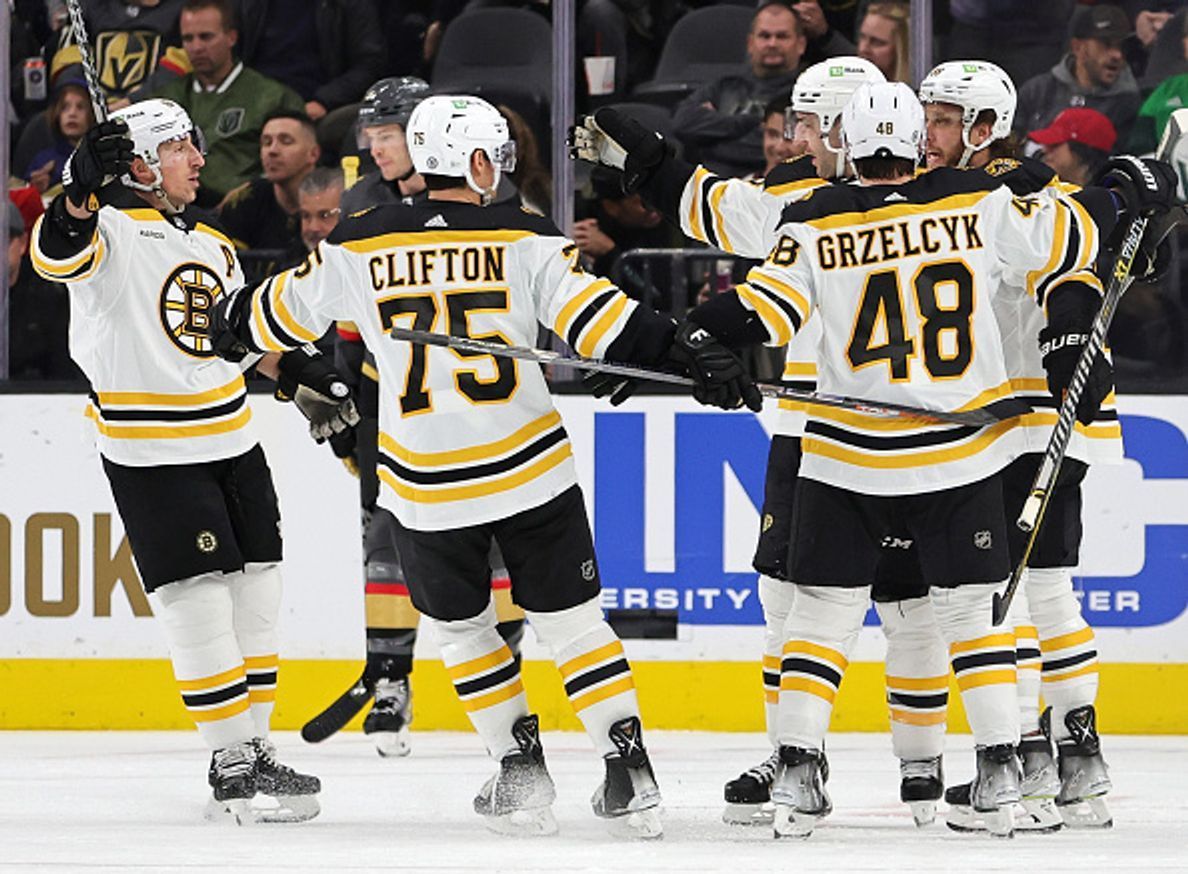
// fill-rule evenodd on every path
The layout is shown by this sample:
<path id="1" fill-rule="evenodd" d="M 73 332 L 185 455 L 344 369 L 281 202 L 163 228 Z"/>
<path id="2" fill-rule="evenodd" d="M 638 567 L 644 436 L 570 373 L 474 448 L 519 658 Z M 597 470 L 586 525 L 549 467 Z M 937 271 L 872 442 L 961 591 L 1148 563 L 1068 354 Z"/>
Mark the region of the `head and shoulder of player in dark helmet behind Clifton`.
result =
<path id="1" fill-rule="evenodd" d="M 346 215 L 377 203 L 411 202 L 423 197 L 425 180 L 412 169 L 404 127 L 413 108 L 429 94 L 416 76 L 381 78 L 367 89 L 359 107 L 359 147 L 371 152 L 375 170 L 364 176 L 342 197 Z"/>

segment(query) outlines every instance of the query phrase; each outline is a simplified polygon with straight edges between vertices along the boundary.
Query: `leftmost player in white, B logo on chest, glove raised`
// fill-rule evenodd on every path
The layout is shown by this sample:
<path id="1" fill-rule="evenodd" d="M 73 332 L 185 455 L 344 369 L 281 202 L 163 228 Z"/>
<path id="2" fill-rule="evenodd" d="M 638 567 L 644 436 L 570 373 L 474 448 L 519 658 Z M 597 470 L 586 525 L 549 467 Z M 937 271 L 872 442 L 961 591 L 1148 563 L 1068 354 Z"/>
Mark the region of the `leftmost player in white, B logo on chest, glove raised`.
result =
<path id="1" fill-rule="evenodd" d="M 114 113 L 70 157 L 32 260 L 70 291 L 70 354 L 90 382 L 103 470 L 182 698 L 213 750 L 208 816 L 308 819 L 320 783 L 282 765 L 268 741 L 279 513 L 241 368 L 207 337 L 211 308 L 244 276 L 230 241 L 188 208 L 202 165 L 172 101 Z M 122 185 L 103 188 L 112 178 Z M 336 374 L 304 350 L 265 367 L 337 406 Z"/>

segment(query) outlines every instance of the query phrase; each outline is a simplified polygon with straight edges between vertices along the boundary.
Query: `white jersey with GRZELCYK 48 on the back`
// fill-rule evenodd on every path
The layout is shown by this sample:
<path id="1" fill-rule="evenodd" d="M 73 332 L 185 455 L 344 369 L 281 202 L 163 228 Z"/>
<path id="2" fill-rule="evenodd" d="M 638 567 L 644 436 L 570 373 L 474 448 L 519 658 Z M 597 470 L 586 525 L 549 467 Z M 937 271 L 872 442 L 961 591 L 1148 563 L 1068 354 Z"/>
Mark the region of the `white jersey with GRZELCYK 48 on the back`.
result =
<path id="1" fill-rule="evenodd" d="M 820 188 L 785 207 L 782 222 L 766 261 L 738 287 L 770 344 L 816 314 L 821 391 L 946 411 L 1012 394 L 993 296 L 1042 297 L 1054 278 L 1085 270 L 1098 246 L 1081 203 L 986 191 L 956 170 L 897 186 Z M 814 408 L 801 475 L 873 495 L 954 488 L 1026 451 L 1015 424 Z"/>

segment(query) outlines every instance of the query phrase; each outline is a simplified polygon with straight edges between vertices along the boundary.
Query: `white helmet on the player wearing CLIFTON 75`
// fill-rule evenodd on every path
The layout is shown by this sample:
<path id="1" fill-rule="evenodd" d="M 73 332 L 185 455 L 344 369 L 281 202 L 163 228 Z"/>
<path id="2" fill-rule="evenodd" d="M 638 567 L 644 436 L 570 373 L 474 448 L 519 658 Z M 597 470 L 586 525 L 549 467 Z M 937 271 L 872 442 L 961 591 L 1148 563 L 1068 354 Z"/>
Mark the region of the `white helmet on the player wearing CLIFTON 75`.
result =
<path id="1" fill-rule="evenodd" d="M 491 103 L 468 95 L 438 94 L 421 101 L 409 118 L 409 156 L 418 173 L 454 176 L 489 203 L 499 172 L 516 169 L 516 141 L 507 120 Z M 494 165 L 495 180 L 480 189 L 470 175 L 470 156 L 481 151 Z"/>

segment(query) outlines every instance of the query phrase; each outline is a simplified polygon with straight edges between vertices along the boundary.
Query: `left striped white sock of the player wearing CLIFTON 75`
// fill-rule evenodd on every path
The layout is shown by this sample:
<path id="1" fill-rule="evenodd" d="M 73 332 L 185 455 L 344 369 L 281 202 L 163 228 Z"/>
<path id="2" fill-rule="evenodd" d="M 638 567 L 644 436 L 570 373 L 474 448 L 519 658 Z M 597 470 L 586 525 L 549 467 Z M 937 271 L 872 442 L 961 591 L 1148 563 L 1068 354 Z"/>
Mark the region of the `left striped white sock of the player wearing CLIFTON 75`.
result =
<path id="1" fill-rule="evenodd" d="M 519 665 L 495 631 L 494 606 L 488 602 L 470 619 L 432 620 L 431 626 L 454 690 L 487 752 L 498 761 L 519 749 L 512 726 L 527 715 L 527 698 Z"/>

